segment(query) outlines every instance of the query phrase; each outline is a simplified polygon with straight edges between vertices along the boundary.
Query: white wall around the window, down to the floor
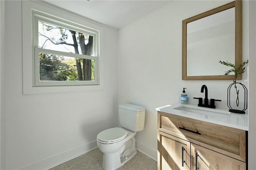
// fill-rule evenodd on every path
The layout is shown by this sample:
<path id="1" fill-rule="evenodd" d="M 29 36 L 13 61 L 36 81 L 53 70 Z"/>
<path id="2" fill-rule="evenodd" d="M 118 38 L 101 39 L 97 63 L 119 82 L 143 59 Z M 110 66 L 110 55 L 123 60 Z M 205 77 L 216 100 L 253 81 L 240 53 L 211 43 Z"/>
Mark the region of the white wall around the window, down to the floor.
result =
<path id="1" fill-rule="evenodd" d="M 104 28 L 103 90 L 22 95 L 21 4 L 5 3 L 1 119 L 6 138 L 1 140 L 6 162 L 1 163 L 11 170 L 46 169 L 95 148 L 98 132 L 117 126 L 117 30 L 88 20 Z"/>

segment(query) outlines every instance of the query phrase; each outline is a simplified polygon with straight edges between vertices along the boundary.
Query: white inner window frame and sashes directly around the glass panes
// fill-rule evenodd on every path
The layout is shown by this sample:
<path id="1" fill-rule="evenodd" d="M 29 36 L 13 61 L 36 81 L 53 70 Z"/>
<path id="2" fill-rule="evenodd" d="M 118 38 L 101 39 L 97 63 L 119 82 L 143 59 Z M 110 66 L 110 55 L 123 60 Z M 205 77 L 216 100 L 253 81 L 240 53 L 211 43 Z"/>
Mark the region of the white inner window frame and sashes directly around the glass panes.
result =
<path id="1" fill-rule="evenodd" d="M 34 44 L 34 81 L 33 86 L 63 86 L 63 85 L 98 85 L 98 53 L 99 53 L 99 31 L 93 30 L 91 28 L 87 28 L 85 26 L 81 26 L 76 23 L 72 23 L 67 20 L 63 20 L 60 18 L 56 18 L 54 16 L 50 16 L 48 14 L 32 10 L 32 28 L 33 29 L 33 40 L 32 43 Z M 34 21 L 34 22 L 33 22 Z M 38 47 L 38 22 L 44 22 L 56 26 L 60 26 L 62 28 L 74 30 L 76 32 L 82 32 L 84 34 L 93 36 L 93 46 L 94 46 L 94 55 L 82 55 L 76 53 L 68 53 L 62 51 L 55 51 L 51 49 L 42 49 Z M 83 58 L 83 59 L 92 59 L 94 60 L 94 80 L 92 81 L 40 81 L 40 65 L 39 65 L 39 53 L 48 53 L 48 54 L 55 54 L 55 55 L 63 55 L 67 57 L 76 57 L 76 58 Z"/>

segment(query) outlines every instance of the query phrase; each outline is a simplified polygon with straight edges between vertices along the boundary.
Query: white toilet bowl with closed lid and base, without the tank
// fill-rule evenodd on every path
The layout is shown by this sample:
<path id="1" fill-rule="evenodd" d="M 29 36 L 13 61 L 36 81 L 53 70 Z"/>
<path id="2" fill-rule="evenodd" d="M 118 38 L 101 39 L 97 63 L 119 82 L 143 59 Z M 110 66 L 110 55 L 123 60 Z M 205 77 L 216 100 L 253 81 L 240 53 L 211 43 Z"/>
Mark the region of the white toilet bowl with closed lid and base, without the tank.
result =
<path id="1" fill-rule="evenodd" d="M 102 167 L 104 170 L 119 168 L 137 153 L 135 134 L 136 132 L 118 127 L 104 130 L 98 134 L 97 145 L 103 153 Z"/>

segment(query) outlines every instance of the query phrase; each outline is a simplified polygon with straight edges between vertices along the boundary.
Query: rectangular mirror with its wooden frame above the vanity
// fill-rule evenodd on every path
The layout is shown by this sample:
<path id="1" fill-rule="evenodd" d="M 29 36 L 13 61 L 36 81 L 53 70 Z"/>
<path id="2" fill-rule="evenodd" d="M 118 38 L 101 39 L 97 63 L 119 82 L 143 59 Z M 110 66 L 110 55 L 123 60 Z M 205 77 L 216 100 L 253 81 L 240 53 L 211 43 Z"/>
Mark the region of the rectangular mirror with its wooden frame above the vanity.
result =
<path id="1" fill-rule="evenodd" d="M 234 79 L 220 60 L 242 63 L 242 0 L 182 21 L 182 80 Z"/>

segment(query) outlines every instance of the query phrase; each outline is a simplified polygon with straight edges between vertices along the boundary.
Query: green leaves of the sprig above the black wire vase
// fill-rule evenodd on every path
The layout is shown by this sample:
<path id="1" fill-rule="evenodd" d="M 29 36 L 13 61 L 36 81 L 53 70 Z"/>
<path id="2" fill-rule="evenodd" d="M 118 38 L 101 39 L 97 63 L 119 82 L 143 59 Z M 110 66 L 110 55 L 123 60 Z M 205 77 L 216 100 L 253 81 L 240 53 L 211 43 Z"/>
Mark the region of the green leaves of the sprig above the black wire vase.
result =
<path id="1" fill-rule="evenodd" d="M 219 61 L 220 64 L 222 65 L 226 65 L 229 67 L 232 67 L 231 69 L 229 69 L 228 71 L 225 71 L 224 75 L 229 75 L 230 73 L 234 72 L 235 73 L 235 80 L 233 80 L 234 83 L 236 83 L 236 78 L 238 77 L 238 74 L 242 74 L 245 72 L 245 67 L 244 65 L 246 65 L 249 61 L 244 61 L 242 64 L 240 64 L 239 67 L 236 67 L 233 63 L 230 62 L 225 62 L 225 61 Z"/>

